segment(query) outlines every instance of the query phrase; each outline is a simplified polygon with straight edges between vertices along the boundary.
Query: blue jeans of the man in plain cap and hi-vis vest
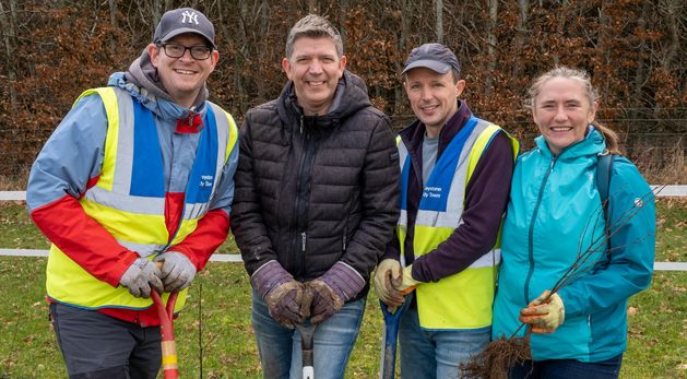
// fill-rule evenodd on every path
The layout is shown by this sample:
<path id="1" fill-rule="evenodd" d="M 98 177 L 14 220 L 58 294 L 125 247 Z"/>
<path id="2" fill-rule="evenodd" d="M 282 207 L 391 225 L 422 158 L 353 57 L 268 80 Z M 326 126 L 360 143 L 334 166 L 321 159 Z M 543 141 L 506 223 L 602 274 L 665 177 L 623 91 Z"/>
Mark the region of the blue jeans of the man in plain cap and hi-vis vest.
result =
<path id="1" fill-rule="evenodd" d="M 459 365 L 481 353 L 491 337 L 491 329 L 427 330 L 419 327 L 416 308 L 401 317 L 401 377 L 459 378 Z"/>

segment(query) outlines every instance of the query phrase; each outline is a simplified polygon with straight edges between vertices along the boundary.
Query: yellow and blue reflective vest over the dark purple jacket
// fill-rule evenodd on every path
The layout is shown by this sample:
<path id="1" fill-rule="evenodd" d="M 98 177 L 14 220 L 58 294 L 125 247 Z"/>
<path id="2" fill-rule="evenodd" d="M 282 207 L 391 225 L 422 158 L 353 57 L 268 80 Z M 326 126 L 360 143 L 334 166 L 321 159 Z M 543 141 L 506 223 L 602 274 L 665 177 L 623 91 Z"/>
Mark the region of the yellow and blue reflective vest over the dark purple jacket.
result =
<path id="1" fill-rule="evenodd" d="M 415 218 L 413 249 L 422 257 L 448 239 L 462 224 L 465 188 L 482 154 L 502 129 L 475 117 L 453 137 L 437 159 L 419 201 Z M 505 131 L 504 131 L 505 132 Z M 518 141 L 508 135 L 517 155 Z M 411 159 L 407 147 L 399 144 L 401 164 L 401 216 L 396 235 L 404 254 L 407 234 L 407 180 Z M 496 269 L 500 262 L 497 246 L 467 269 L 435 283 L 423 283 L 415 289 L 419 324 L 424 329 L 464 330 L 491 324 L 491 305 Z"/>

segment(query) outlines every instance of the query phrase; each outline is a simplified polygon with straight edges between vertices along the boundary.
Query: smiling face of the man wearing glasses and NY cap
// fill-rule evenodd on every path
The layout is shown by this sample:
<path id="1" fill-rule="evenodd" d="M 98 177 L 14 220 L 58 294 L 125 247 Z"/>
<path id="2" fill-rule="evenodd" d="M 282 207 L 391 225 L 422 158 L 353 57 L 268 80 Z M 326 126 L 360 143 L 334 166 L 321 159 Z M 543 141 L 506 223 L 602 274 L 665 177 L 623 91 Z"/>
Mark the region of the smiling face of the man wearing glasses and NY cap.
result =
<path id="1" fill-rule="evenodd" d="M 208 45 L 203 37 L 194 33 L 178 35 L 169 43 L 186 47 Z M 147 46 L 147 52 L 167 94 L 177 105 L 185 108 L 193 105 L 193 100 L 220 60 L 220 54 L 216 50 L 213 50 L 210 58 L 205 60 L 193 59 L 188 49 L 180 58 L 169 58 L 162 47 L 154 44 Z"/>

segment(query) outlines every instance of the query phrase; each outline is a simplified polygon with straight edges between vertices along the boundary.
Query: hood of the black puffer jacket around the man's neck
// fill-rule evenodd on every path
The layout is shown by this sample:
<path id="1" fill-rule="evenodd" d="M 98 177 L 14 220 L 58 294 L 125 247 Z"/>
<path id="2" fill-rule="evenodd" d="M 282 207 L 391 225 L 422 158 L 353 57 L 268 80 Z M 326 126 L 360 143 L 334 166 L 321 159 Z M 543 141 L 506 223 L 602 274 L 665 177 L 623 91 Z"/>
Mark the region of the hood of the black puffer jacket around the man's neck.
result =
<path id="1" fill-rule="evenodd" d="M 371 107 L 367 86 L 360 76 L 344 70 L 336 85 L 336 92 L 327 115 L 304 116 L 303 108 L 298 105 L 296 90 L 293 81 L 288 81 L 277 99 L 279 115 L 285 125 L 304 117 L 309 126 L 335 127 L 358 110 Z"/>

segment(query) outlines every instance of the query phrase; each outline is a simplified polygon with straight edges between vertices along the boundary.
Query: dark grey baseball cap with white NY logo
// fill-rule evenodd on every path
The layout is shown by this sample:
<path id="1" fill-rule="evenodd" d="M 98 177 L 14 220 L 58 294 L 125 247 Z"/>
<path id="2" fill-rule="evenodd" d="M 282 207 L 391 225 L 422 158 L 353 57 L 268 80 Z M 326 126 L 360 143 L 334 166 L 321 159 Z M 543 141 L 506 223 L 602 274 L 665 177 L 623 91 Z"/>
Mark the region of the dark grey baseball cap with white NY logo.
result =
<path id="1" fill-rule="evenodd" d="M 192 8 L 179 8 L 165 12 L 153 36 L 153 43 L 166 43 L 183 33 L 199 34 L 215 46 L 215 27 L 205 15 Z"/>

